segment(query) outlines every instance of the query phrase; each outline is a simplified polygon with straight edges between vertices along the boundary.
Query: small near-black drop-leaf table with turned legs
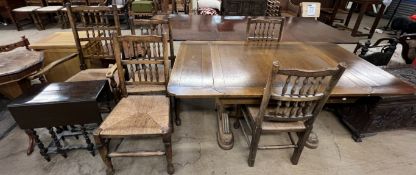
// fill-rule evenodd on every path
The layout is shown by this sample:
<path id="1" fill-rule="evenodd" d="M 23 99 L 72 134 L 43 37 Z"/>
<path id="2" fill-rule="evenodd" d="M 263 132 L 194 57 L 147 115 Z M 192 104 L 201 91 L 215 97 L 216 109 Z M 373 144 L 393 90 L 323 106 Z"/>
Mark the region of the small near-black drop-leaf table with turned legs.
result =
<path id="1" fill-rule="evenodd" d="M 109 105 L 112 94 L 106 80 L 51 83 L 33 88 L 8 105 L 16 123 L 33 138 L 40 154 L 50 161 L 50 154 L 61 154 L 71 149 L 84 148 L 94 155 L 94 145 L 89 139 L 86 124 L 101 123 L 101 104 Z M 70 134 L 59 134 L 60 127 L 80 125 L 81 130 L 71 135 L 82 135 L 87 146 L 71 147 L 61 140 Z M 35 128 L 47 128 L 52 142 L 46 146 Z M 33 140 L 31 145 L 33 145 Z M 30 149 L 30 148 L 29 148 Z"/>

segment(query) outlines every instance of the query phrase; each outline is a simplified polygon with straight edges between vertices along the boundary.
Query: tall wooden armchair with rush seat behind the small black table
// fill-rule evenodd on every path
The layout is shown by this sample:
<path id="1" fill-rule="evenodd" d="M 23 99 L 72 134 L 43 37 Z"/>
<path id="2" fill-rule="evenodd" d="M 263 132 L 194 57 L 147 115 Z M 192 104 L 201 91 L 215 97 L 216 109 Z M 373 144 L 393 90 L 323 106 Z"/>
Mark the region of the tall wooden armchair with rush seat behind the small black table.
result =
<path id="1" fill-rule="evenodd" d="M 106 60 L 104 63 L 115 62 L 112 35 L 121 35 L 120 23 L 118 21 L 116 7 L 71 7 L 69 4 L 67 4 L 67 8 L 68 17 L 71 23 L 78 53 L 68 55 L 50 63 L 41 71 L 31 76 L 31 79 L 41 78 L 43 81 L 47 81 L 45 78 L 43 78 L 45 77 L 45 74 L 47 74 L 57 65 L 62 64 L 70 59 L 74 59 L 78 56 L 81 63 L 81 71 L 66 81 L 90 81 L 108 79 L 110 81 L 113 93 L 117 98 L 117 82 L 113 76 L 114 72 L 117 70 L 116 65 L 113 65 L 110 68 L 107 68 L 108 65 L 104 65 L 103 67 L 105 68 L 86 69 L 86 60 L 98 60 L 99 62 L 101 62 L 100 60 Z M 80 16 L 80 22 L 76 22 L 75 15 Z M 109 16 L 112 16 L 114 19 L 113 23 L 111 23 Z M 81 42 L 89 42 L 90 44 L 83 48 Z M 91 64 L 89 65 L 91 66 Z"/>

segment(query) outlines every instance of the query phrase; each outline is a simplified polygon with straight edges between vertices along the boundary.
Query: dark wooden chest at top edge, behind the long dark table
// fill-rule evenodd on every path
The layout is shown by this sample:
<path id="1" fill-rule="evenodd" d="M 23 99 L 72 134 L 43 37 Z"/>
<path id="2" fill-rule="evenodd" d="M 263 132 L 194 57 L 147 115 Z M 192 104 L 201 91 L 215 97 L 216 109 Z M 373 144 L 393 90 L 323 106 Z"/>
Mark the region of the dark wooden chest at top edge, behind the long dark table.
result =
<path id="1" fill-rule="evenodd" d="M 223 0 L 222 13 L 228 16 L 264 16 L 266 0 Z"/>

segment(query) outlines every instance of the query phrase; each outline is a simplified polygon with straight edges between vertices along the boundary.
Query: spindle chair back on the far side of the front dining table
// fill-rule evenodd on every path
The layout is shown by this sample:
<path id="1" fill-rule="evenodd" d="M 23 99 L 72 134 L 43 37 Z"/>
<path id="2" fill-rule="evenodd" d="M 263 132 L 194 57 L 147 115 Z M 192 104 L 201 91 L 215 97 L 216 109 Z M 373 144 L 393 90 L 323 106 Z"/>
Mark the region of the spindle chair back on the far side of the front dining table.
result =
<path id="1" fill-rule="evenodd" d="M 247 20 L 246 37 L 248 42 L 278 43 L 282 40 L 285 19 L 281 17 L 256 18 Z"/>

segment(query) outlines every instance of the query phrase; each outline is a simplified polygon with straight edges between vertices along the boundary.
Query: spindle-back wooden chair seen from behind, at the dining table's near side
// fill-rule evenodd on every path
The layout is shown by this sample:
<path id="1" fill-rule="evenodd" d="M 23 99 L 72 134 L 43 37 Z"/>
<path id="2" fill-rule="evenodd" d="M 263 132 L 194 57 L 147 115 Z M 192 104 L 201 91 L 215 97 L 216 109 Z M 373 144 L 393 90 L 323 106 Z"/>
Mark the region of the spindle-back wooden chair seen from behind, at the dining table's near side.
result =
<path id="1" fill-rule="evenodd" d="M 325 70 L 294 70 L 273 63 L 261 104 L 244 106 L 244 118 L 235 124 L 241 126 L 250 147 L 249 166 L 254 166 L 258 149 L 294 148 L 291 162 L 298 163 L 314 121 L 345 68 L 340 63 L 337 68 Z M 279 132 L 287 132 L 291 144 L 259 145 L 261 135 Z M 297 141 L 291 132 L 297 133 Z"/>

